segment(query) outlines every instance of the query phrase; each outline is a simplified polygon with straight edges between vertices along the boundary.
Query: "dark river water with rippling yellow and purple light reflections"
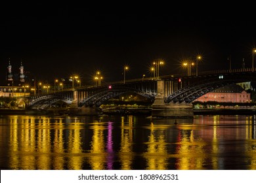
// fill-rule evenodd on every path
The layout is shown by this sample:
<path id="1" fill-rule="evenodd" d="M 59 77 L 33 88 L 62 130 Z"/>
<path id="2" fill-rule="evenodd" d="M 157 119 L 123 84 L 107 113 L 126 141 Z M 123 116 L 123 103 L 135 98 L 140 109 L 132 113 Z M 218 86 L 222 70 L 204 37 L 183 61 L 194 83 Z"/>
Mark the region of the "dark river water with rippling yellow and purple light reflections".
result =
<path id="1" fill-rule="evenodd" d="M 1 115 L 0 168 L 255 170 L 255 116 Z"/>

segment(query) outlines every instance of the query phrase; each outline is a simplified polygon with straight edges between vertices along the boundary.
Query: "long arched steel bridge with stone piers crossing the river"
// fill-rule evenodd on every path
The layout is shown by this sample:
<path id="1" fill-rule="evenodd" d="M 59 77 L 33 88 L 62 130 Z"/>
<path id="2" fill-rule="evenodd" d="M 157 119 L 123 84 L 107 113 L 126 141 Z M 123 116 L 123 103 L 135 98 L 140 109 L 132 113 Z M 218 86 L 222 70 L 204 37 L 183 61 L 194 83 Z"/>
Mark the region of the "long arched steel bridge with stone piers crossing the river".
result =
<path id="1" fill-rule="evenodd" d="M 191 116 L 193 115 L 192 101 L 205 93 L 229 84 L 255 80 L 256 72 L 252 68 L 205 71 L 198 73 L 197 76 L 195 73 L 164 75 L 158 78 L 126 80 L 125 83 L 117 81 L 102 86 L 70 88 L 61 92 L 22 97 L 22 100 L 26 102 L 27 108 L 47 108 L 58 101 L 72 108 L 98 108 L 109 99 L 132 92 L 146 97 L 152 103 L 152 115 L 154 116 L 179 116 L 183 110 L 185 114 Z M 91 112 L 91 109 L 89 111 Z"/>

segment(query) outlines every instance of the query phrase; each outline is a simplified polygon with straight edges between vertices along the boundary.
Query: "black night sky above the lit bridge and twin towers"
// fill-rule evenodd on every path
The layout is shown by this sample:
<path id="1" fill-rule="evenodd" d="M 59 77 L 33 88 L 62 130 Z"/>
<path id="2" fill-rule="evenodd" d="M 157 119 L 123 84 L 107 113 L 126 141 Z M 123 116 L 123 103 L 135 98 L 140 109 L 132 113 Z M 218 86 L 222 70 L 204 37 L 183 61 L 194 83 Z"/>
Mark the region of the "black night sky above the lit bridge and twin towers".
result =
<path id="1" fill-rule="evenodd" d="M 164 5 L 163 5 L 164 7 Z M 213 7 L 212 7 L 213 8 Z M 150 76 L 154 59 L 163 59 L 160 75 L 186 73 L 181 60 L 203 59 L 199 71 L 251 67 L 256 31 L 253 12 L 181 7 L 96 8 L 86 5 L 1 6 L 0 83 L 5 81 L 8 58 L 12 71 L 40 80 L 77 74 L 90 83 L 97 70 L 104 82 L 126 76 Z"/>

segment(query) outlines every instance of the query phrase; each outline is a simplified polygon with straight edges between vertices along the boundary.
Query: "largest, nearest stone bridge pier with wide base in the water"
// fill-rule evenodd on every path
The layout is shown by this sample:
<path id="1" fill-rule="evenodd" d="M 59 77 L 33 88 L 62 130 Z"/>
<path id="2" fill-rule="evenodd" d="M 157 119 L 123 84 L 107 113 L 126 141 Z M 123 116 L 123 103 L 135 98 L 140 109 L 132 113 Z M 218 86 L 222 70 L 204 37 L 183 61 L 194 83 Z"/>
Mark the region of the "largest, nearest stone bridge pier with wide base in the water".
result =
<path id="1" fill-rule="evenodd" d="M 158 80 L 158 95 L 152 105 L 152 117 L 193 118 L 193 105 L 187 103 L 165 103 L 165 82 Z"/>

